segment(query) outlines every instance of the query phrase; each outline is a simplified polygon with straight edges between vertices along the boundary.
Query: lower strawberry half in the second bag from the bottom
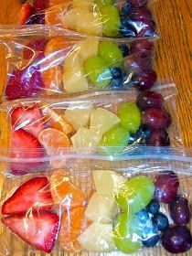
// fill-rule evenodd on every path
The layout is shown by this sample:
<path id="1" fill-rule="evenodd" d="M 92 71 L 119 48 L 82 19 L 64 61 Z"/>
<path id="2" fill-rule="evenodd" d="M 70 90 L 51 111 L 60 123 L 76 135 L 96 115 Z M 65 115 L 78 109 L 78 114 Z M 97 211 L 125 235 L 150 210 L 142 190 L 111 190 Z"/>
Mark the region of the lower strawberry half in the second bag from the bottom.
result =
<path id="1" fill-rule="evenodd" d="M 31 170 L 37 171 L 39 166 L 42 167 L 41 162 L 36 162 L 37 158 L 44 156 L 44 150 L 37 141 L 37 138 L 32 134 L 20 129 L 18 131 L 11 132 L 11 157 L 17 159 L 16 162 L 12 162 L 10 171 L 14 175 L 26 174 Z M 21 160 L 24 158 L 26 162 Z M 28 161 L 27 158 L 35 158 L 35 160 Z"/>

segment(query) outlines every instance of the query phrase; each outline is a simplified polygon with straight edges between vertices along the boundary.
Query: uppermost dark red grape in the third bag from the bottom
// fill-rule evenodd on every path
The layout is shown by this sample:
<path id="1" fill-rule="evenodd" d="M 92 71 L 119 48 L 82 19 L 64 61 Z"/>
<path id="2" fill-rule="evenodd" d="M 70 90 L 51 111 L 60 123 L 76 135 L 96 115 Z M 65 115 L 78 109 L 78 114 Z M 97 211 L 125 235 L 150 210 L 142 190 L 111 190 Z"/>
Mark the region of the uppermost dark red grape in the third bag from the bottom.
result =
<path id="1" fill-rule="evenodd" d="M 138 53 L 140 51 L 147 51 L 148 53 L 150 52 L 153 53 L 154 49 L 155 49 L 154 43 L 147 39 L 134 41 L 130 47 L 131 53 Z"/>

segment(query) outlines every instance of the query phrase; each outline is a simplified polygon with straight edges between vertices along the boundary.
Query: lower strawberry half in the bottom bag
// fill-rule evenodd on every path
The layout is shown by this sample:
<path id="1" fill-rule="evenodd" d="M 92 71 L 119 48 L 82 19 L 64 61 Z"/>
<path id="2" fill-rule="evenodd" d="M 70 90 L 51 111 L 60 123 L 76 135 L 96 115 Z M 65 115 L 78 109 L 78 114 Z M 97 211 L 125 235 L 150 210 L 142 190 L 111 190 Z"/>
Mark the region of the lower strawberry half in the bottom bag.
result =
<path id="1" fill-rule="evenodd" d="M 2 219 L 22 240 L 37 250 L 51 252 L 59 231 L 59 216 L 53 212 L 37 212 L 8 216 Z"/>

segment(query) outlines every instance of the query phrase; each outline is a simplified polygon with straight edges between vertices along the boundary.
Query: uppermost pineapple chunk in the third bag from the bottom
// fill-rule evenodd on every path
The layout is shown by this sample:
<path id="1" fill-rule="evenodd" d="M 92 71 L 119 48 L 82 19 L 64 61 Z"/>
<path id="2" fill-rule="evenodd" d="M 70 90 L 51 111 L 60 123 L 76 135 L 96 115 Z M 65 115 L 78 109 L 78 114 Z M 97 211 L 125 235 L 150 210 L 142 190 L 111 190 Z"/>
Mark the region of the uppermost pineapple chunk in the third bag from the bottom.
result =
<path id="1" fill-rule="evenodd" d="M 98 54 L 99 39 L 95 37 L 88 37 L 77 44 L 79 49 L 78 53 L 80 57 L 85 60 L 91 56 L 97 56 Z"/>

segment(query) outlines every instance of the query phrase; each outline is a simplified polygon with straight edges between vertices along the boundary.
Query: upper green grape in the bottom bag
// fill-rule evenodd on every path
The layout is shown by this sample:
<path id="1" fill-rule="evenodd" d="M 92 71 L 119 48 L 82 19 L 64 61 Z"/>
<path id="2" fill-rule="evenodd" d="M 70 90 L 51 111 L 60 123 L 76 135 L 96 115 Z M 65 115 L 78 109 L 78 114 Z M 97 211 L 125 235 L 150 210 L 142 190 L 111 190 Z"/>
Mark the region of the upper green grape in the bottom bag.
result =
<path id="1" fill-rule="evenodd" d="M 154 183 L 148 176 L 135 176 L 125 183 L 115 199 L 124 212 L 135 213 L 148 205 L 154 192 Z"/>

